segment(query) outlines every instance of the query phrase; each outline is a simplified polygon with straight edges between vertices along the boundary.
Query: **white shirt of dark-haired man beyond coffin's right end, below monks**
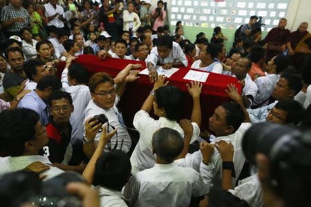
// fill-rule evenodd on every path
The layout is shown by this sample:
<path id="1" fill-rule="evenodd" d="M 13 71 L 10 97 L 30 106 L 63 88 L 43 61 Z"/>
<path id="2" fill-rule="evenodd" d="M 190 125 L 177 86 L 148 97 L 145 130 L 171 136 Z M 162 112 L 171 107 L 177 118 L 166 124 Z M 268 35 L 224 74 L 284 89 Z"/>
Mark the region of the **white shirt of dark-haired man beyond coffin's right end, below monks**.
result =
<path id="1" fill-rule="evenodd" d="M 255 79 L 254 82 L 258 86 L 258 91 L 254 99 L 254 106 L 261 105 L 270 98 L 279 79 L 280 75 L 277 74 L 269 74 Z"/>

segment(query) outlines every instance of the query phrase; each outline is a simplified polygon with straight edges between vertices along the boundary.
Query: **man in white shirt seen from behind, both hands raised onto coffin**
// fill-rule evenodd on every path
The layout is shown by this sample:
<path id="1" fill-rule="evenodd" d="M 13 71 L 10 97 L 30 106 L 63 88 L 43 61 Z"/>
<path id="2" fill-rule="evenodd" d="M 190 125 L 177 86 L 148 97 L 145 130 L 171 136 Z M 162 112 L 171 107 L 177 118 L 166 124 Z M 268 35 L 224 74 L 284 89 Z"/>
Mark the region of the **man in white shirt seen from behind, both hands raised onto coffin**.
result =
<path id="1" fill-rule="evenodd" d="M 135 146 L 133 154 L 131 155 L 132 173 L 135 174 L 141 170 L 152 168 L 156 163 L 156 157 L 152 153 L 151 139 L 156 130 L 162 127 L 172 128 L 178 130 L 183 136 L 184 131 L 180 128 L 178 120 L 184 108 L 182 103 L 184 99 L 180 89 L 174 86 L 166 86 L 164 83 L 165 77 L 159 76 L 154 83 L 153 90 L 147 97 L 133 119 L 134 127 L 140 132 L 140 139 Z M 194 108 L 192 110 L 191 121 L 194 129 L 191 137 L 191 143 L 198 139 L 200 135 L 201 110 L 200 110 L 200 92 L 202 84 L 196 82 L 188 86 L 189 93 L 194 99 Z M 155 115 L 160 117 L 158 120 L 150 117 L 151 109 Z"/>

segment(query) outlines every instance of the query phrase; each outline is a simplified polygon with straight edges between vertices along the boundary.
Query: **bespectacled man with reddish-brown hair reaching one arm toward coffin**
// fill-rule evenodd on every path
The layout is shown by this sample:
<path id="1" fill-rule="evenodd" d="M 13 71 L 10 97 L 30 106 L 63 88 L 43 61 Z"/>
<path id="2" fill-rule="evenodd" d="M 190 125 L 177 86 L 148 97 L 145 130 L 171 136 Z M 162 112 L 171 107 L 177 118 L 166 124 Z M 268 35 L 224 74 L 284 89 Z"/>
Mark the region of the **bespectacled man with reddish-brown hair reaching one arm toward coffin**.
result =
<path id="1" fill-rule="evenodd" d="M 97 148 L 100 140 L 100 129 L 102 124 L 100 120 L 92 118 L 95 115 L 106 115 L 109 126 L 107 130 L 111 132 L 117 128 L 117 133 L 111 138 L 110 146 L 107 144 L 105 150 L 116 148 L 129 152 L 131 148 L 131 137 L 127 132 L 126 126 L 122 118 L 122 114 L 117 108 L 117 103 L 120 101 L 126 83 L 138 79 L 138 69 L 140 64 L 129 64 L 124 68 L 114 79 L 106 72 L 97 72 L 88 81 L 88 87 L 91 91 L 92 100 L 88 103 L 85 110 L 84 124 L 91 130 L 91 133 L 84 133 L 84 153 L 91 158 L 95 148 Z"/>

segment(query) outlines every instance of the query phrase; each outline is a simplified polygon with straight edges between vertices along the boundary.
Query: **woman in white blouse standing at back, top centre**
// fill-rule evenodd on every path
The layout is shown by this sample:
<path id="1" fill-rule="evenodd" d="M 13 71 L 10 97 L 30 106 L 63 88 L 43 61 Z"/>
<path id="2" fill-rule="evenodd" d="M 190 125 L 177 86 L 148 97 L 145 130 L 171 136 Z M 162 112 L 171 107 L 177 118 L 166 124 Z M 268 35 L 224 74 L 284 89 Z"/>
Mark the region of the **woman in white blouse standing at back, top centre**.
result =
<path id="1" fill-rule="evenodd" d="M 142 23 L 140 22 L 140 17 L 138 17 L 138 14 L 134 12 L 134 5 L 133 3 L 128 3 L 127 10 L 123 11 L 123 30 L 129 31 L 131 34 L 135 35 L 136 31 Z"/>

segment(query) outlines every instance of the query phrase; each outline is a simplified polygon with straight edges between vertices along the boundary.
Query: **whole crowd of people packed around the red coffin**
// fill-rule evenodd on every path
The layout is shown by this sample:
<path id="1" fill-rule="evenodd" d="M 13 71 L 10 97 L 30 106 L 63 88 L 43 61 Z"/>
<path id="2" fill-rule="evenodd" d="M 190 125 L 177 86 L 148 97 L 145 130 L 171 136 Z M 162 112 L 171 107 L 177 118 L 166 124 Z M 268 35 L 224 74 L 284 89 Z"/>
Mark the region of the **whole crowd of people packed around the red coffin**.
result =
<path id="1" fill-rule="evenodd" d="M 310 206 L 308 23 L 290 32 L 282 18 L 263 38 L 261 20 L 252 16 L 227 52 L 220 27 L 210 36 L 200 32 L 192 43 L 181 21 L 173 29 L 167 25 L 166 3 L 155 7 L 149 0 L 102 0 L 101 6 L 10 0 L 1 8 L 0 182 L 23 175 L 20 170 L 23 176 L 36 172 L 38 181 L 74 171 L 84 184 L 66 190 L 84 206 Z M 90 74 L 75 62 L 79 55 L 137 63 L 115 77 Z M 66 66 L 57 77 L 60 61 Z M 193 108 L 185 109 L 185 92 L 158 75 L 157 66 L 235 77 L 242 92 L 229 84 L 232 101 L 221 103 L 202 126 L 201 107 L 209 107 L 200 103 L 202 83 L 187 83 Z M 133 144 L 117 103 L 142 68 L 153 89 L 133 117 L 139 134 Z M 184 110 L 191 117 L 182 117 Z M 278 137 L 274 128 L 289 134 Z M 266 131 L 276 138 L 264 145 Z M 252 147 L 246 137 L 261 132 Z M 0 189 L 3 205 L 39 206 L 27 197 L 32 188 Z"/>

